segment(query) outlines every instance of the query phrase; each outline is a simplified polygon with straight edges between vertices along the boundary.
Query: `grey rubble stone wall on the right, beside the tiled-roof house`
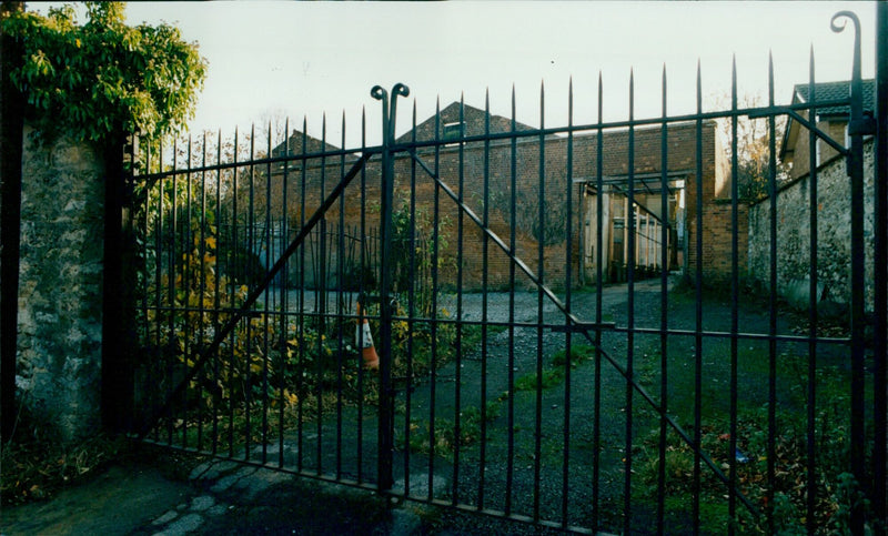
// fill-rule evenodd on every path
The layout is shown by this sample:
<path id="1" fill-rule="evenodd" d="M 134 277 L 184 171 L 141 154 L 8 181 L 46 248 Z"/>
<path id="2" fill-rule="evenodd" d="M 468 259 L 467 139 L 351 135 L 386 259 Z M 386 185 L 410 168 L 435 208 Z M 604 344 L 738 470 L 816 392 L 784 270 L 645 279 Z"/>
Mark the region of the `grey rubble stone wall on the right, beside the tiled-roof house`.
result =
<path id="1" fill-rule="evenodd" d="M 866 300 L 872 310 L 874 246 L 872 140 L 864 148 Z M 817 277 L 820 302 L 850 302 L 850 179 L 844 158 L 834 158 L 817 172 Z M 770 264 L 770 201 L 749 208 L 749 273 L 767 286 Z M 806 307 L 810 272 L 810 176 L 804 175 L 777 194 L 777 286 L 789 303 Z M 825 304 L 825 306 L 827 306 Z"/>

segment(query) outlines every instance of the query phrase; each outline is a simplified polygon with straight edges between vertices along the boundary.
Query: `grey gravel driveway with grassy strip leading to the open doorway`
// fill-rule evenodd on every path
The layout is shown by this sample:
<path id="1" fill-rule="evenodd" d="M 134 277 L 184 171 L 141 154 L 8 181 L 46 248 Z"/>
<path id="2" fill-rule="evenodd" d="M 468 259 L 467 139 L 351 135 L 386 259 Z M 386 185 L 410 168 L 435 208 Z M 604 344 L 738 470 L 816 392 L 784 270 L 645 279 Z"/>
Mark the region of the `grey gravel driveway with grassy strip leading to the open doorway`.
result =
<path id="1" fill-rule="evenodd" d="M 670 279 L 669 286 L 675 282 L 676 279 Z M 656 360 L 650 361 L 653 367 L 658 362 L 662 295 L 658 279 L 635 283 L 634 324 L 650 332 L 643 330 L 629 337 L 625 331 L 627 285 L 604 289 L 603 322 L 617 328 L 603 331 L 601 348 L 619 367 L 626 366 L 629 338 L 636 363 Z M 693 293 L 685 293 L 684 297 L 668 295 L 668 326 L 693 330 L 696 318 Z M 335 304 L 335 296 L 330 297 L 329 309 Z M 425 378 L 414 380 L 410 388 L 403 381 L 396 383 L 394 489 L 421 500 L 435 499 L 568 526 L 620 532 L 625 461 L 627 457 L 636 461 L 635 474 L 637 464 L 645 459 L 642 438 L 659 427 L 656 408 L 634 391 L 632 412 L 627 412 L 630 390 L 625 377 L 607 358 L 596 366 L 595 353 L 589 350 L 587 358 L 569 373 L 562 365 L 565 375 L 536 390 L 537 370 L 542 368 L 546 377 L 556 368 L 552 365 L 553 356 L 566 346 L 568 334 L 553 330 L 564 326 L 564 314 L 544 296 L 541 322 L 536 292 L 487 293 L 487 321 L 509 322 L 513 297 L 516 324 L 513 330 L 491 327 L 486 342 L 458 361 Z M 343 302 L 351 300 L 353 295 L 343 295 Z M 458 317 L 480 322 L 484 300 L 483 294 L 464 294 Z M 581 321 L 592 322 L 596 302 L 595 292 L 575 292 L 571 310 Z M 452 317 L 457 316 L 454 295 L 445 296 L 438 305 L 446 307 Z M 743 330 L 766 333 L 765 312 L 754 303 L 739 305 Z M 305 310 L 315 307 L 314 296 L 306 295 Z M 729 326 L 730 307 L 724 301 L 706 301 L 704 328 L 727 331 Z M 589 344 L 582 333 L 569 336 L 574 346 Z M 719 360 L 724 351 L 722 342 L 706 344 L 712 358 Z M 695 352 L 693 337 L 673 336 L 670 345 L 677 346 L 690 362 Z M 714 377 L 712 382 L 718 380 Z M 756 387 L 750 386 L 750 391 Z M 656 393 L 653 398 L 658 398 Z M 483 424 L 486 441 L 482 441 L 482 407 L 486 408 L 487 419 Z M 627 413 L 633 417 L 630 426 Z M 339 477 L 373 482 L 377 445 L 375 408 L 364 408 L 360 428 L 354 425 L 357 422 L 356 409 L 345 406 L 341 419 L 329 417 L 317 429 L 306 424 L 301 442 L 303 468 L 311 471 L 320 463 L 323 472 L 335 467 Z M 428 454 L 433 429 L 434 456 Z M 633 435 L 629 456 L 625 452 L 628 429 Z M 457 436 L 463 439 L 454 441 Z M 297 453 L 292 446 L 294 439 L 293 434 L 287 435 L 290 453 L 285 456 L 293 463 Z M 412 443 L 425 443 L 425 447 L 408 447 Z M 633 478 L 635 487 L 640 477 Z M 645 526 L 653 527 L 654 513 L 649 506 L 634 502 L 633 508 L 633 526 L 643 532 Z M 679 522 L 678 526 L 667 528 L 680 533 L 683 525 Z"/>

